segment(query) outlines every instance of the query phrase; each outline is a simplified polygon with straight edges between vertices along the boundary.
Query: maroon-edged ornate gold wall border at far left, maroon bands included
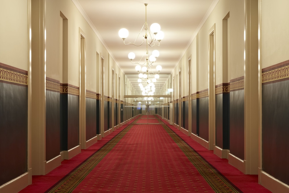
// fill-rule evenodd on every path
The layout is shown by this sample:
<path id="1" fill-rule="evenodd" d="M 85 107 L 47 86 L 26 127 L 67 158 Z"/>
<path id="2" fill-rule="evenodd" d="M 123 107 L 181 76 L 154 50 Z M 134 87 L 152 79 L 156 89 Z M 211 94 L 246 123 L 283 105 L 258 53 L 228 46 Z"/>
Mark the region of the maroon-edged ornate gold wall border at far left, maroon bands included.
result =
<path id="1" fill-rule="evenodd" d="M 0 82 L 28 87 L 28 71 L 0 63 Z"/>

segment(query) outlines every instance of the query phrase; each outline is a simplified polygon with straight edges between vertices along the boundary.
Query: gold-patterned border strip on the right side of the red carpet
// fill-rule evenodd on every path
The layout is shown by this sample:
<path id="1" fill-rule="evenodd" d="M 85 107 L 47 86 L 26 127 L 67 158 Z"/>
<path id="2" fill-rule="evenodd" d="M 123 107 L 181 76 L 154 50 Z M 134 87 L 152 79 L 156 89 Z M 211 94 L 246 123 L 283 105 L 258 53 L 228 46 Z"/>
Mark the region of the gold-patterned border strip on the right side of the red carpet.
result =
<path id="1" fill-rule="evenodd" d="M 201 176 L 207 181 L 215 192 L 237 193 L 236 190 L 224 177 L 222 177 L 212 166 L 210 166 L 197 152 L 186 142 L 175 134 L 167 125 L 162 125 L 166 132 L 171 136 L 175 143 L 181 148 L 191 163 L 197 168 Z"/>

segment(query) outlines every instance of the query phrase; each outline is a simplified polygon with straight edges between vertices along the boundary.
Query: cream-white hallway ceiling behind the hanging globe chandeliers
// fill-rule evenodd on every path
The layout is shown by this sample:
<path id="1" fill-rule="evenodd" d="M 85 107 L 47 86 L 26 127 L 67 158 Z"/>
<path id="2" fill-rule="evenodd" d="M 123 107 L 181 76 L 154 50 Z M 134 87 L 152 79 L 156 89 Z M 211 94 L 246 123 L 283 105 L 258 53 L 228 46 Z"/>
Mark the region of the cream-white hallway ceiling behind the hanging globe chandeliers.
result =
<path id="1" fill-rule="evenodd" d="M 129 31 L 125 42 L 134 42 L 145 23 L 145 5 L 147 5 L 147 23 L 159 23 L 164 39 L 157 49 L 160 56 L 154 66 L 161 65 L 160 74 L 171 74 L 184 52 L 196 36 L 200 27 L 208 18 L 219 0 L 72 0 L 92 29 L 108 49 L 110 55 L 125 74 L 137 74 L 135 65 L 127 57 L 129 52 L 136 54 L 139 61 L 146 46 L 124 45 L 118 36 L 121 28 Z M 144 30 L 140 34 L 140 41 Z M 161 77 L 161 75 L 160 75 Z M 165 79 L 165 78 L 164 78 Z M 158 80 L 162 86 L 166 80 Z M 130 79 L 137 85 L 137 79 Z M 158 94 L 158 93 L 156 93 Z"/>

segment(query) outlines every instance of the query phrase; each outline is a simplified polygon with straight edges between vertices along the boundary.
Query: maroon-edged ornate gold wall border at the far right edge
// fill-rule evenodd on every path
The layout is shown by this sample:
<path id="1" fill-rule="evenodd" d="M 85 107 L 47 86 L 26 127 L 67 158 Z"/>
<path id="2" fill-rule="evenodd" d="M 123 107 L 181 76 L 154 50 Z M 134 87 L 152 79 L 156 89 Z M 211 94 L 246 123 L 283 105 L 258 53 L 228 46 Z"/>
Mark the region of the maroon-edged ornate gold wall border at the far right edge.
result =
<path id="1" fill-rule="evenodd" d="M 262 84 L 289 80 L 289 60 L 262 69 Z"/>

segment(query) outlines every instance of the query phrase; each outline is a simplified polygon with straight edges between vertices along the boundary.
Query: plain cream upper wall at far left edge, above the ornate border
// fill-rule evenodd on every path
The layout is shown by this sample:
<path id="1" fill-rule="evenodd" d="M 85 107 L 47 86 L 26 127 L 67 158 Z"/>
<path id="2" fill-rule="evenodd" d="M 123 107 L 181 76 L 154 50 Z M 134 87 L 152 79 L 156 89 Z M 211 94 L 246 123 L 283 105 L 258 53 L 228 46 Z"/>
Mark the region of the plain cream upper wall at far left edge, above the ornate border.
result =
<path id="1" fill-rule="evenodd" d="M 0 63 L 28 71 L 28 1 L 2 1 Z M 9 18 L 9 19 L 8 19 Z"/>

